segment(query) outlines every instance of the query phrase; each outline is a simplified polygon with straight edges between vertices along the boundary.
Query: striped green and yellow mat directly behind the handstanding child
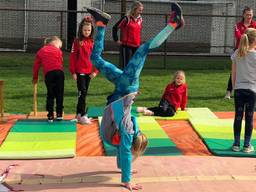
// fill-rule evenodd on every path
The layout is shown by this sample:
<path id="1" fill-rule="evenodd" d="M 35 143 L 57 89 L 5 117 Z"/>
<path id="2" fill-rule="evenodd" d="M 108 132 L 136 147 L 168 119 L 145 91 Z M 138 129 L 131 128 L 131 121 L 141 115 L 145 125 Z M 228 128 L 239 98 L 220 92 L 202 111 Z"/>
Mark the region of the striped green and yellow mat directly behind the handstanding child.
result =
<path id="1" fill-rule="evenodd" d="M 101 117 L 99 118 L 101 122 Z M 147 156 L 175 156 L 182 155 L 181 151 L 166 135 L 161 126 L 156 122 L 154 117 L 140 116 L 137 117 L 140 130 L 148 138 L 148 147 L 144 153 Z M 107 156 L 116 155 L 116 148 L 103 142 Z"/>

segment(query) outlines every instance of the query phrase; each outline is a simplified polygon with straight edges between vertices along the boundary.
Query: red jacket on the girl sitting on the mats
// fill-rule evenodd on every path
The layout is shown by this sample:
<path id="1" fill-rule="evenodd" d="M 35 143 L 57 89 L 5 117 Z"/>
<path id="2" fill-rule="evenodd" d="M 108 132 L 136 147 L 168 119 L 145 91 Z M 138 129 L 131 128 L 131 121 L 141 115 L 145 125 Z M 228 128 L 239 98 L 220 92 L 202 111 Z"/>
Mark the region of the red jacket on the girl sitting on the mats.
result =
<path id="1" fill-rule="evenodd" d="M 166 86 L 163 99 L 166 99 L 177 110 L 179 107 L 184 110 L 187 105 L 187 84 L 177 86 L 174 82 Z"/>

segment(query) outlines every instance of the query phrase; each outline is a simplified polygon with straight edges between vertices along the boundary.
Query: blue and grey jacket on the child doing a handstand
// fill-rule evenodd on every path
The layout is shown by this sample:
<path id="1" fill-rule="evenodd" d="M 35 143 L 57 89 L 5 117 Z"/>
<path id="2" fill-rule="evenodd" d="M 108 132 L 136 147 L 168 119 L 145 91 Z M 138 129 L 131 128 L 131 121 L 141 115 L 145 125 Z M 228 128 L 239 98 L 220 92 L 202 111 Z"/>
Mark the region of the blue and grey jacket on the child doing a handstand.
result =
<path id="1" fill-rule="evenodd" d="M 136 118 L 131 116 L 131 107 L 136 93 L 131 93 L 110 103 L 104 110 L 100 132 L 102 139 L 110 145 L 113 134 L 118 130 L 120 144 L 117 147 L 117 164 L 122 171 L 122 182 L 131 180 L 132 143 L 138 135 Z"/>

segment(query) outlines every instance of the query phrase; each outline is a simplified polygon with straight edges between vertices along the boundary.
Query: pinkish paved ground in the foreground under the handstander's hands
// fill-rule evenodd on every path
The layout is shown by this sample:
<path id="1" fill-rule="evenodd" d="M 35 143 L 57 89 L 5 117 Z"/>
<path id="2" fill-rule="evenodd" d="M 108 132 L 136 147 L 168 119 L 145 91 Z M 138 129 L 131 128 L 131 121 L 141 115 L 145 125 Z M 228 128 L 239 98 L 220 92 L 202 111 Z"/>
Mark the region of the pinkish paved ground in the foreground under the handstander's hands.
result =
<path id="1" fill-rule="evenodd" d="M 0 170 L 19 164 L 7 184 L 25 191 L 122 192 L 114 157 L 0 161 Z M 146 192 L 252 192 L 256 188 L 254 158 L 175 156 L 141 157 L 133 168 L 134 183 Z"/>

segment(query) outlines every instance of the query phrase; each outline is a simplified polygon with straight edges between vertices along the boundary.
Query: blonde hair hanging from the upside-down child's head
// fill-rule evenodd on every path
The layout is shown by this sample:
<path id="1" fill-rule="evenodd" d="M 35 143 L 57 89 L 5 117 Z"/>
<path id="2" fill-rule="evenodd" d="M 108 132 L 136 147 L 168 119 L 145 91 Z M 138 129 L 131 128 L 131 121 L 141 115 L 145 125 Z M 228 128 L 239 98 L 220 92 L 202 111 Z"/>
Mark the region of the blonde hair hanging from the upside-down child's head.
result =
<path id="1" fill-rule="evenodd" d="M 139 135 L 133 140 L 132 154 L 133 161 L 136 160 L 140 155 L 143 155 L 148 145 L 148 139 L 145 134 L 139 133 Z"/>

